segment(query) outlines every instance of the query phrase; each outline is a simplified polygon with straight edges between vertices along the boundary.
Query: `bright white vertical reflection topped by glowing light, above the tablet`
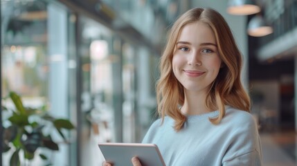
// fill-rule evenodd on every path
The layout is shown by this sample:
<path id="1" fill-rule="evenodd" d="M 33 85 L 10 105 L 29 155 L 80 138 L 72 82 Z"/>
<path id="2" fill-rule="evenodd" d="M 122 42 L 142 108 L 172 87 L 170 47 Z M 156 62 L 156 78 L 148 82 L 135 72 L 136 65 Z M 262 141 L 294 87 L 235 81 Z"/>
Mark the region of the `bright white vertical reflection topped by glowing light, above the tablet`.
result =
<path id="1" fill-rule="evenodd" d="M 108 43 L 93 40 L 90 45 L 91 93 L 94 95 L 91 121 L 98 141 L 111 141 L 112 108 L 107 104 L 107 94 L 112 93 L 111 62 L 108 59 Z"/>

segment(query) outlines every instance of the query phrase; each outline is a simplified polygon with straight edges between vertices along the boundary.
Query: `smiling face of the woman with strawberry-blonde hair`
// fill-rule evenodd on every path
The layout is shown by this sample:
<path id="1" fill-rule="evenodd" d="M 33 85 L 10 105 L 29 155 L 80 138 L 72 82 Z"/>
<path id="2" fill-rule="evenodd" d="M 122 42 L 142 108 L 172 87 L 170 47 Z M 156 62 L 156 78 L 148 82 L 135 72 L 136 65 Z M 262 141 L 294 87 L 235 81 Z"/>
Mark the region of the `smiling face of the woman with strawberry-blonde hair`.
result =
<path id="1" fill-rule="evenodd" d="M 184 26 L 172 59 L 173 73 L 184 89 L 207 93 L 221 64 L 213 30 L 201 21 Z"/>

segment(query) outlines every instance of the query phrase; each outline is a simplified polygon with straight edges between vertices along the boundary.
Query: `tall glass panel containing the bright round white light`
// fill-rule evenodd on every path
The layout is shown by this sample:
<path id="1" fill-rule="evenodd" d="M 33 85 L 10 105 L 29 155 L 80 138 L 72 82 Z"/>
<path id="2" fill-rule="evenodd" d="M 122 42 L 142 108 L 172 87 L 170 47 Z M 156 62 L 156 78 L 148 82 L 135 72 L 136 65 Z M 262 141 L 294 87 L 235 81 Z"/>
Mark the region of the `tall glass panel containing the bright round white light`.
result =
<path id="1" fill-rule="evenodd" d="M 111 31 L 81 16 L 80 58 L 82 69 L 82 113 L 80 122 L 80 165 L 101 165 L 98 142 L 115 140 L 113 64 Z M 99 160 L 98 160 L 99 159 Z"/>

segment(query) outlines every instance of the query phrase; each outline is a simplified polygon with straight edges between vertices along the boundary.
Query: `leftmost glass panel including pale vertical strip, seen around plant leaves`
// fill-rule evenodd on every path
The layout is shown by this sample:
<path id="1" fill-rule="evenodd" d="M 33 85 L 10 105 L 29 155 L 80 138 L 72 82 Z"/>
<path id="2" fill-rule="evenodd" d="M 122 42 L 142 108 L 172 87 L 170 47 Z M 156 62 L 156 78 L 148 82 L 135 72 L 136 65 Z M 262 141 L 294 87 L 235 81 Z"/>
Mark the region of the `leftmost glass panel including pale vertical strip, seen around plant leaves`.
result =
<path id="1" fill-rule="evenodd" d="M 19 157 L 24 165 L 69 163 L 69 145 L 63 144 L 59 133 L 41 117 L 48 113 L 54 118 L 69 118 L 66 89 L 69 67 L 67 55 L 71 48 L 66 33 L 68 12 L 57 1 L 1 1 L 1 98 L 3 104 L 11 109 L 2 112 L 3 127 L 12 124 L 8 118 L 15 110 L 12 101 L 4 97 L 10 91 L 15 91 L 21 96 L 25 107 L 39 109 L 28 114 L 31 125 L 26 126 L 26 131 L 31 133 L 37 123 L 44 124 L 44 136 L 51 135 L 54 142 L 61 142 L 58 143 L 59 151 L 38 148 L 33 160 L 25 160 L 24 151 L 20 151 Z M 64 134 L 69 138 L 67 133 Z M 20 138 L 28 140 L 30 134 Z M 13 148 L 3 153 L 1 164 L 8 165 L 12 153 Z M 42 160 L 39 154 L 44 154 L 48 160 Z"/>

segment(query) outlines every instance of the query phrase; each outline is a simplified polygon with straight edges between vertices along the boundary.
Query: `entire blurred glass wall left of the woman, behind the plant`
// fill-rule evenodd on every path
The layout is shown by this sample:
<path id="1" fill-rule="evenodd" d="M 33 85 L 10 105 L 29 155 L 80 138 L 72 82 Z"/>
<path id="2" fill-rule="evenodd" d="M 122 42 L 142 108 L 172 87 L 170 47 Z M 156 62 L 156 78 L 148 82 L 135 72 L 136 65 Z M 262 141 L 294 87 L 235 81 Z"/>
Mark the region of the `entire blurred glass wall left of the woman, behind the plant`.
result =
<path id="1" fill-rule="evenodd" d="M 98 5 L 109 6 L 113 22 L 91 12 Z M 66 142 L 47 129 L 59 151 L 41 148 L 33 161 L 20 152 L 21 164 L 101 165 L 98 142 L 141 142 L 156 118 L 154 84 L 165 27 L 179 10 L 177 1 L 1 0 L 3 106 L 12 108 L 6 97 L 15 91 L 25 107 L 43 108 L 75 126 L 64 132 Z M 11 112 L 1 115 L 9 127 Z M 9 165 L 12 151 L 2 156 L 2 165 Z"/>

